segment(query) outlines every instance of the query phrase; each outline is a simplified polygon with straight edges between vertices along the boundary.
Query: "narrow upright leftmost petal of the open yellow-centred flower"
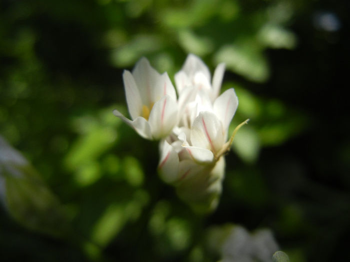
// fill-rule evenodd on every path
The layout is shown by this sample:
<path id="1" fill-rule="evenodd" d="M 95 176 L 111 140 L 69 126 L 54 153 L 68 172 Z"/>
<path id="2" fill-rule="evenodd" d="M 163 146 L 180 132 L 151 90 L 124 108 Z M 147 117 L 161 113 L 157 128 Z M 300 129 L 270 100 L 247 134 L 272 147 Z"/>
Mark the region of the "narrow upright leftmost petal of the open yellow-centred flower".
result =
<path id="1" fill-rule="evenodd" d="M 124 70 L 122 77 L 124 81 L 127 109 L 129 110 L 131 119 L 135 119 L 140 116 L 142 111 L 141 97 L 131 73 Z"/>

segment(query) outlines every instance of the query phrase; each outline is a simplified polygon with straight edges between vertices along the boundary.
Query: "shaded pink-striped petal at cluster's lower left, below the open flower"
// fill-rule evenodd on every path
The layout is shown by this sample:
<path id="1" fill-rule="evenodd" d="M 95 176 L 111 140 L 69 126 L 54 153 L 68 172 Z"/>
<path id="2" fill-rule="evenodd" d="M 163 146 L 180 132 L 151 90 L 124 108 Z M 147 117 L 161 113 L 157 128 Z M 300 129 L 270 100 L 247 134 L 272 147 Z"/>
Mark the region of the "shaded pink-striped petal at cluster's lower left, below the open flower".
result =
<path id="1" fill-rule="evenodd" d="M 165 140 L 161 142 L 158 172 L 165 183 L 172 183 L 178 178 L 178 156 L 176 151 Z"/>

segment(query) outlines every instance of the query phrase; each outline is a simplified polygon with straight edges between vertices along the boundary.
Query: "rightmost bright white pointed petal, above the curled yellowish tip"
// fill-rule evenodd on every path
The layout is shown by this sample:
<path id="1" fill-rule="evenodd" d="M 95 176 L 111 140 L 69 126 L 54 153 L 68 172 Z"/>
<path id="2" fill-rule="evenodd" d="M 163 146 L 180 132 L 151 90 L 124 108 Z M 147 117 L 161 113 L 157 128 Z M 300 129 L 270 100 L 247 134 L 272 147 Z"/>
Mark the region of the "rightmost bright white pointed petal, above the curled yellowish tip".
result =
<path id="1" fill-rule="evenodd" d="M 227 132 L 229 123 L 237 109 L 238 99 L 233 88 L 227 89 L 214 101 L 214 113 L 222 123 Z"/>

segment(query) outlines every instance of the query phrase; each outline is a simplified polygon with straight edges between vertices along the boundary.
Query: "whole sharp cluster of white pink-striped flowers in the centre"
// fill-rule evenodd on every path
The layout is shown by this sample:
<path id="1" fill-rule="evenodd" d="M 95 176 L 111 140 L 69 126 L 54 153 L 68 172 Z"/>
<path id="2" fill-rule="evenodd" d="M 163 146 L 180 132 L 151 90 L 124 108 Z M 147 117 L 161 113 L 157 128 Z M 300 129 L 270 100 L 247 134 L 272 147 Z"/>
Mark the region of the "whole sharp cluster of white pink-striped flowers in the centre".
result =
<path id="1" fill-rule="evenodd" d="M 238 100 L 233 88 L 219 95 L 224 69 L 224 64 L 219 64 L 211 79 L 200 58 L 189 54 L 175 74 L 177 98 L 167 73 L 159 74 L 141 58 L 132 72 L 123 73 L 132 120 L 113 111 L 140 136 L 160 140 L 161 179 L 201 212 L 217 206 L 224 176 L 223 155 L 235 132 L 246 123 L 240 124 L 227 141 Z"/>

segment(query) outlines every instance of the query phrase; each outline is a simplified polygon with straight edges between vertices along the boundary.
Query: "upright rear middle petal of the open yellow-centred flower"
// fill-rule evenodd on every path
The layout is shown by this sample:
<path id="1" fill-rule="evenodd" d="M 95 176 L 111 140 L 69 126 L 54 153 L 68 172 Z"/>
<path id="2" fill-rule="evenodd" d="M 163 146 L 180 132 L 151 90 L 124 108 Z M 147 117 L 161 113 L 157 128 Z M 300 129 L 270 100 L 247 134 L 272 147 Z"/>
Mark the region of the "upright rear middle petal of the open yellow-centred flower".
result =
<path id="1" fill-rule="evenodd" d="M 155 101 L 152 100 L 156 86 L 159 84 L 160 74 L 149 64 L 148 60 L 142 57 L 132 70 L 132 75 L 138 87 L 141 100 L 144 105 L 149 106 Z"/>

